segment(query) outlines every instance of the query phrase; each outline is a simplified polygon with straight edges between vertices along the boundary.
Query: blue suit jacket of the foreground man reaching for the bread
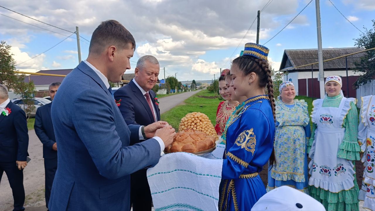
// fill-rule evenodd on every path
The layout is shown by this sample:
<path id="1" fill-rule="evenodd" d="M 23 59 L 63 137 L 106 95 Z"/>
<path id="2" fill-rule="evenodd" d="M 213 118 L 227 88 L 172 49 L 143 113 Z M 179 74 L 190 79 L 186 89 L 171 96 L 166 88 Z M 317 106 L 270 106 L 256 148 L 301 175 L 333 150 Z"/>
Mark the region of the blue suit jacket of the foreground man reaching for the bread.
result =
<path id="1" fill-rule="evenodd" d="M 48 208 L 130 210 L 130 174 L 160 158 L 155 139 L 127 126 L 99 76 L 81 62 L 66 76 L 51 108 L 58 144 L 57 172 Z"/>

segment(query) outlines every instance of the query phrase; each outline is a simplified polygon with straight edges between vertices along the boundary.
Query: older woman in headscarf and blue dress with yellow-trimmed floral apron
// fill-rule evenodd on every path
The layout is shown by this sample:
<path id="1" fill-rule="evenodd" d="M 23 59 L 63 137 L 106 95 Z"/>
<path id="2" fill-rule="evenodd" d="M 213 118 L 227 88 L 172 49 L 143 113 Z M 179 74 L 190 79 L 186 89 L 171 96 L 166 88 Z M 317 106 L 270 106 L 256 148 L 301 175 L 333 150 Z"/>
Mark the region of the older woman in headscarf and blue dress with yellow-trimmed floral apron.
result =
<path id="1" fill-rule="evenodd" d="M 283 82 L 276 101 L 275 156 L 277 165 L 268 171 L 267 192 L 280 186 L 291 186 L 308 193 L 306 140 L 310 138 L 307 103 L 294 100 L 292 82 Z"/>

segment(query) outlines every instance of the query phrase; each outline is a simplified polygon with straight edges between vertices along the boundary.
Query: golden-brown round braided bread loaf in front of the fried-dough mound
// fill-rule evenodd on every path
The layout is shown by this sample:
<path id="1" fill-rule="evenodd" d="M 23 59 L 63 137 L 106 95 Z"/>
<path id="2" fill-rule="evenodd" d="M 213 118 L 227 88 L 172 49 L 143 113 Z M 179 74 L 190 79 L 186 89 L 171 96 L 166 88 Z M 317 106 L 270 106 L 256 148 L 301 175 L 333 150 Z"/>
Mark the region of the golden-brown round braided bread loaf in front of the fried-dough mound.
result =
<path id="1" fill-rule="evenodd" d="M 215 138 L 201 131 L 185 129 L 178 132 L 166 152 L 202 152 L 215 146 Z"/>

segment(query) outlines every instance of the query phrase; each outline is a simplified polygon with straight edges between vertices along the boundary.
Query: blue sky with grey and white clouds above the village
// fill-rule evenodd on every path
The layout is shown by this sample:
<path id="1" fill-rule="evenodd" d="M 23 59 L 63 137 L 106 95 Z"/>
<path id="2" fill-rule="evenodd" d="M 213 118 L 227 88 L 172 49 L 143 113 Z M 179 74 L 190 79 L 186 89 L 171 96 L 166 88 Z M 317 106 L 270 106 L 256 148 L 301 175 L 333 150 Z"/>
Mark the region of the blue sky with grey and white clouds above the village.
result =
<path id="1" fill-rule="evenodd" d="M 372 28 L 374 0 L 331 0 L 360 30 Z M 305 7 L 310 0 L 0 0 L 0 6 L 57 26 L 75 31 L 90 40 L 101 21 L 115 19 L 134 36 L 136 51 L 131 59 L 154 55 L 165 67 L 166 77 L 211 80 L 220 68 L 230 68 L 231 61 L 245 43 L 256 41 L 256 22 L 261 10 L 260 44 L 266 43 Z M 323 48 L 353 47 L 360 32 L 332 6 L 321 0 Z M 6 16 L 9 17 L 6 17 Z M 42 27 L 37 28 L 23 22 Z M 46 51 L 66 36 L 67 31 L 42 24 L 0 7 L 0 40 L 12 45 L 16 64 Z M 53 33 L 53 32 L 56 33 Z M 57 34 L 58 33 L 58 34 Z M 51 50 L 17 65 L 21 71 L 74 68 L 78 64 L 75 34 Z M 243 37 L 245 36 L 245 39 Z M 243 39 L 243 40 L 242 40 Z M 236 50 L 237 46 L 239 48 Z M 269 60 L 279 69 L 285 49 L 317 48 L 315 0 L 278 36 L 266 44 Z M 82 58 L 88 55 L 89 42 L 81 39 Z M 164 78 L 160 72 L 160 79 Z"/>

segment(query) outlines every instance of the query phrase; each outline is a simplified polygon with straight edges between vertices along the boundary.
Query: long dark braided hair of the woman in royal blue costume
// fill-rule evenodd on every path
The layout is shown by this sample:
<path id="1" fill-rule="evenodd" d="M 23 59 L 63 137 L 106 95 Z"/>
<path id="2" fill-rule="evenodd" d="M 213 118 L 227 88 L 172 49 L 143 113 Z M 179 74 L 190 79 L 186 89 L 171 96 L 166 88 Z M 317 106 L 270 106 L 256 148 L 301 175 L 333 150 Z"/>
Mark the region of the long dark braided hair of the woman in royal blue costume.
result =
<path id="1" fill-rule="evenodd" d="M 259 78 L 259 86 L 261 88 L 267 87 L 268 97 L 270 98 L 270 104 L 272 108 L 273 120 L 276 123 L 276 104 L 275 98 L 273 96 L 273 83 L 268 62 L 263 59 L 258 59 L 254 56 L 243 55 L 234 59 L 233 64 L 236 64 L 237 67 L 242 70 L 244 75 L 248 75 L 253 72 L 257 74 Z M 272 153 L 270 156 L 270 165 L 276 165 L 274 148 L 272 149 Z"/>

